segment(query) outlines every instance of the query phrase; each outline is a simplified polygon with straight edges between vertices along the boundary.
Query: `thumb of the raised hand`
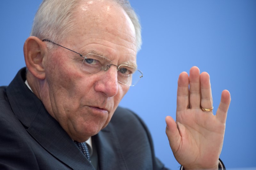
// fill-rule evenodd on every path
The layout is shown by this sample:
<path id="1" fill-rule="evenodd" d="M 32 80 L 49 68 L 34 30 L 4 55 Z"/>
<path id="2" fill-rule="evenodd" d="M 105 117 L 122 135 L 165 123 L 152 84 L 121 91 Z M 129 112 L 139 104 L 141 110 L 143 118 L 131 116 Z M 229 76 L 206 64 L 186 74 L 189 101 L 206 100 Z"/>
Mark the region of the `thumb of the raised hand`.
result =
<path id="1" fill-rule="evenodd" d="M 179 146 L 181 144 L 180 132 L 177 128 L 176 122 L 173 120 L 172 117 L 167 116 L 165 118 L 165 122 L 166 122 L 165 133 L 166 133 L 167 138 L 169 140 L 169 144 L 171 146 L 172 152 L 175 153 L 175 152 L 178 151 Z"/>

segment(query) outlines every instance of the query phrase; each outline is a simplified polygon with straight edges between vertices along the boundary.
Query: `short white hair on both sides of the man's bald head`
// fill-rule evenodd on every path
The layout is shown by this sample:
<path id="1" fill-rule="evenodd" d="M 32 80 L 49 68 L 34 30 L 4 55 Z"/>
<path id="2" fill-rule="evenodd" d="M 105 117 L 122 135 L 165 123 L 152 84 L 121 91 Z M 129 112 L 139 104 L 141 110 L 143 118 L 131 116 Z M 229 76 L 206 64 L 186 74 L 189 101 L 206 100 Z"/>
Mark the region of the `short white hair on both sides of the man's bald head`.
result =
<path id="1" fill-rule="evenodd" d="M 113 0 L 119 4 L 127 13 L 135 28 L 137 52 L 141 48 L 141 26 L 139 18 L 132 9 L 128 0 Z M 39 39 L 51 39 L 60 42 L 68 36 L 74 28 L 74 11 L 79 0 L 43 0 L 31 30 L 31 36 Z M 49 47 L 52 48 L 51 44 Z"/>

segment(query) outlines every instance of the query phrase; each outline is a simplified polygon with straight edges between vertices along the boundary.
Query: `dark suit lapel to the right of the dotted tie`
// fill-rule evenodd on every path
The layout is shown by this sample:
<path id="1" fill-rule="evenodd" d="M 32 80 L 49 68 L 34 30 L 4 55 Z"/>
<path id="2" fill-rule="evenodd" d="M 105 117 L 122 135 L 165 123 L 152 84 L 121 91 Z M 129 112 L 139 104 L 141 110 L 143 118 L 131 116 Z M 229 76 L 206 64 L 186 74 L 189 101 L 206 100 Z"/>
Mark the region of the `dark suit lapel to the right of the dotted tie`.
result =
<path id="1" fill-rule="evenodd" d="M 97 145 L 100 169 L 128 169 L 111 121 L 93 138 Z"/>

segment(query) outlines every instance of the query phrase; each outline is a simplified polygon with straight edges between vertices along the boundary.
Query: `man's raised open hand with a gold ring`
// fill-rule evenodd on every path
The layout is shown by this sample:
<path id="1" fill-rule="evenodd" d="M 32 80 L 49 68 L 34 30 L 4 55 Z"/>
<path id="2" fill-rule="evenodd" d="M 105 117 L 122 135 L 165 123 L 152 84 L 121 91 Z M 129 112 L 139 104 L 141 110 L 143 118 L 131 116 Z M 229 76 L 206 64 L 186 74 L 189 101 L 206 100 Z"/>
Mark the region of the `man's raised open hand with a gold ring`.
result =
<path id="1" fill-rule="evenodd" d="M 189 76 L 180 74 L 176 122 L 166 117 L 166 134 L 176 160 L 186 170 L 218 168 L 230 100 L 224 90 L 216 116 L 203 111 L 201 107 L 213 104 L 209 74 L 200 74 L 197 67 L 190 69 Z"/>

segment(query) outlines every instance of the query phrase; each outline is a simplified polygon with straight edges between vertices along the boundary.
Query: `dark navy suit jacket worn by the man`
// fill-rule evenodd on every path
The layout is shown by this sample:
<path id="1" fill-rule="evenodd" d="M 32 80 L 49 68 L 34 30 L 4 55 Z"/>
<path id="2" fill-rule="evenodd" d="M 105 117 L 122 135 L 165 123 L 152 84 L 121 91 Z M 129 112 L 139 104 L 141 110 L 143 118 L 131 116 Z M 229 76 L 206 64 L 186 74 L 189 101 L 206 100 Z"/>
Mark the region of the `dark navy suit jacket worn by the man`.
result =
<path id="1" fill-rule="evenodd" d="M 28 89 L 25 74 L 23 68 L 0 87 L 0 169 L 94 169 Z M 147 127 L 130 110 L 118 107 L 92 140 L 100 169 L 164 169 Z"/>

